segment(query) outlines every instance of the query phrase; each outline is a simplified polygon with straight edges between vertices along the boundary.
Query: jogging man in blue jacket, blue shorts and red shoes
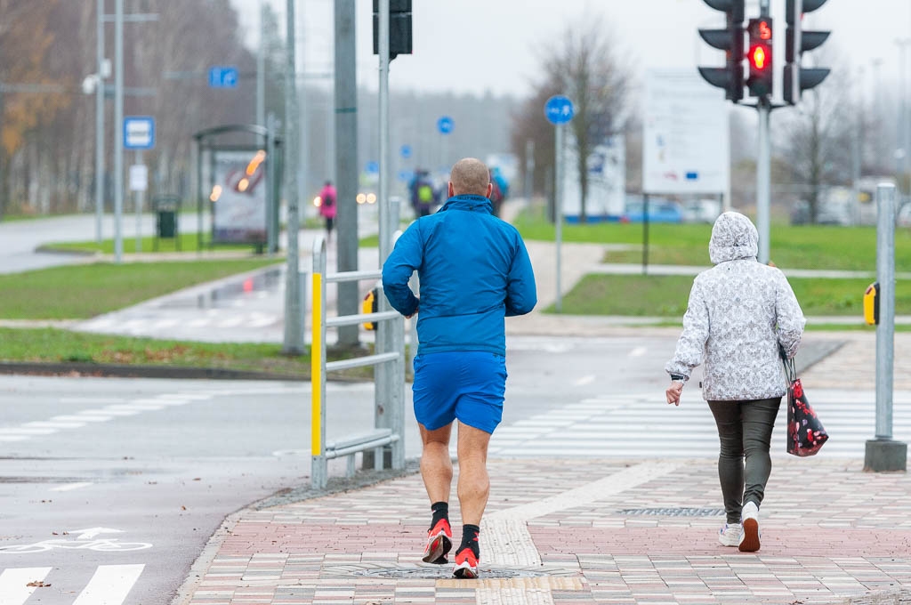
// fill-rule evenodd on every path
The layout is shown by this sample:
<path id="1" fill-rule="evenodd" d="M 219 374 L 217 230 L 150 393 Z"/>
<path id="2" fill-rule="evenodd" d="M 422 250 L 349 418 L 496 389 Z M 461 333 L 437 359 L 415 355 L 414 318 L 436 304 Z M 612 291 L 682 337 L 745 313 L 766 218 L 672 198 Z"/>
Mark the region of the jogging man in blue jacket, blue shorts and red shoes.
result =
<path id="1" fill-rule="evenodd" d="M 433 518 L 424 560 L 446 563 L 452 548 L 449 494 L 453 466 L 449 436 L 459 421 L 457 494 L 462 542 L 456 578 L 476 578 L 478 534 L 490 493 L 487 445 L 503 412 L 506 392 L 504 317 L 530 312 L 535 275 L 518 231 L 493 214 L 490 173 L 474 158 L 452 169 L 449 199 L 415 220 L 383 265 L 383 287 L 406 317 L 418 313 L 415 417 L 424 442 L 421 476 Z M 413 272 L 421 298 L 408 287 Z"/>

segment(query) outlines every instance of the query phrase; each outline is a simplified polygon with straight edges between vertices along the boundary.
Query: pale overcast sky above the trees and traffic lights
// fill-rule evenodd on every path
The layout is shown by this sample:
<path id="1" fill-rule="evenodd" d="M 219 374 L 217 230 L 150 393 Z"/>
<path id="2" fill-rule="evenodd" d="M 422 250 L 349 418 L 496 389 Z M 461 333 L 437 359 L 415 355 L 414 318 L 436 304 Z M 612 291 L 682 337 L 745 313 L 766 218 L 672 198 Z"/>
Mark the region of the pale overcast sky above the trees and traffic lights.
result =
<path id="1" fill-rule="evenodd" d="M 286 0 L 268 1 L 284 14 Z M 783 36 L 783 15 L 776 15 L 783 12 L 783 1 L 772 0 L 776 37 Z M 261 0 L 233 2 L 253 42 Z M 718 51 L 696 30 L 721 26 L 723 15 L 701 0 L 414 0 L 413 5 L 415 54 L 392 63 L 390 85 L 396 89 L 525 96 L 536 79 L 536 49 L 553 44 L 568 23 L 593 15 L 603 17 L 617 40 L 618 56 L 633 73 L 722 64 Z M 333 0 L 296 0 L 296 7 L 303 22 L 305 69 L 326 72 L 332 68 Z M 358 80 L 375 88 L 372 0 L 356 0 L 356 9 Z M 758 2 L 748 0 L 746 12 L 747 18 L 758 16 Z M 813 29 L 832 30 L 824 48 L 850 64 L 855 77 L 864 69 L 867 85 L 878 73 L 883 85 L 897 86 L 896 40 L 911 37 L 911 0 L 829 0 L 807 15 L 807 22 Z"/>

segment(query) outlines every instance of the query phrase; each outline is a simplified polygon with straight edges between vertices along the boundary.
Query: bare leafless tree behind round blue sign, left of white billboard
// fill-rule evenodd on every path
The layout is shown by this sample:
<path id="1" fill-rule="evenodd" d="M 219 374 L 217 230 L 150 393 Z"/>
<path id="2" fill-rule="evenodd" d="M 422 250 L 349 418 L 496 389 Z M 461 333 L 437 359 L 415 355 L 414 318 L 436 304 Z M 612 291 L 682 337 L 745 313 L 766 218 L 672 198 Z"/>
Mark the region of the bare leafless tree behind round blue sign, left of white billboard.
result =
<path id="1" fill-rule="evenodd" d="M 586 220 L 589 191 L 589 153 L 621 128 L 630 82 L 630 74 L 620 67 L 614 54 L 609 32 L 604 17 L 590 13 L 566 26 L 557 37 L 559 42 L 548 47 L 542 57 L 544 78 L 536 87 L 533 101 L 526 104 L 514 122 L 514 132 L 518 132 L 513 136 L 513 149 L 517 155 L 522 156 L 527 138 L 535 140 L 536 156 L 537 149 L 542 149 L 544 155 L 544 149 L 553 149 L 554 145 L 553 128 L 547 128 L 542 98 L 561 92 L 572 100 L 576 114 L 570 128 L 578 152 L 582 222 Z M 549 144 L 547 140 L 537 140 L 545 132 L 549 133 Z"/>

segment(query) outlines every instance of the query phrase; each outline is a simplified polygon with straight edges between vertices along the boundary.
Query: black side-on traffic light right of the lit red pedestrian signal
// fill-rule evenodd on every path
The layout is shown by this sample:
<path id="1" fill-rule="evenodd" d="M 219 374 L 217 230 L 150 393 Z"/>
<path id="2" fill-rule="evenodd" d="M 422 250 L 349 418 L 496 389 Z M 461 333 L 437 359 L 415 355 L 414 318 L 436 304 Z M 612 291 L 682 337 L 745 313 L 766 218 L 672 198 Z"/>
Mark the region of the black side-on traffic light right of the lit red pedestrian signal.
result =
<path id="1" fill-rule="evenodd" d="M 819 86 L 826 76 L 828 68 L 801 67 L 801 56 L 805 50 L 822 46 L 832 32 L 803 31 L 802 21 L 806 13 L 825 4 L 826 0 L 787 0 L 787 32 L 784 41 L 784 102 L 796 105 L 800 102 L 801 92 Z"/>

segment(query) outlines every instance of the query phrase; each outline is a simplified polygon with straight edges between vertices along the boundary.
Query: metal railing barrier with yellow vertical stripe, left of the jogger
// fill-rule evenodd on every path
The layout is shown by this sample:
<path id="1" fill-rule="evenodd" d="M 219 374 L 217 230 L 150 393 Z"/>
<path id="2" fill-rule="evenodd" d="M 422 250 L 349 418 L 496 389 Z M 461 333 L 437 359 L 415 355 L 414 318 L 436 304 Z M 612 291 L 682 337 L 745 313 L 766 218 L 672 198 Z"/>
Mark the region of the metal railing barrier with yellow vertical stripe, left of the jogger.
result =
<path id="1" fill-rule="evenodd" d="M 404 317 L 390 308 L 382 286 L 377 296 L 377 313 L 326 317 L 327 283 L 379 280 L 382 272 L 354 271 L 326 273 L 326 242 L 313 242 L 312 274 L 312 470 L 311 485 L 322 489 L 328 482 L 328 463 L 348 456 L 347 473 L 354 474 L 354 455 L 374 450 L 374 468 L 384 468 L 385 446 L 391 446 L 391 466 L 404 468 Z M 376 323 L 374 354 L 334 362 L 326 361 L 326 329 L 358 323 Z M 346 436 L 326 444 L 326 373 L 367 365 L 375 366 L 374 431 Z"/>

